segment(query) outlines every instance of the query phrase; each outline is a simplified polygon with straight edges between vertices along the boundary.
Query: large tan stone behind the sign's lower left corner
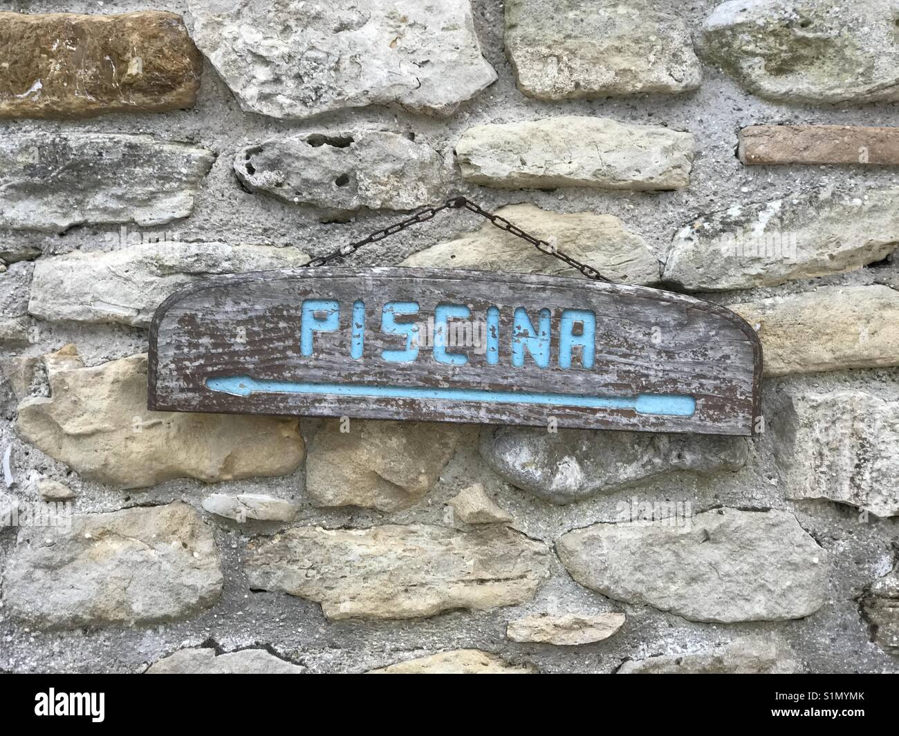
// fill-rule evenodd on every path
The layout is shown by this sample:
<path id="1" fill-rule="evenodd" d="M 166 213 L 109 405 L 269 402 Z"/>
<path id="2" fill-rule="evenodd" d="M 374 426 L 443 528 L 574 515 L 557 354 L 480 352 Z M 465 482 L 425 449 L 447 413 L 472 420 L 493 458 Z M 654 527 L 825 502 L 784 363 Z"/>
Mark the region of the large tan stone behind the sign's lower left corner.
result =
<path id="1" fill-rule="evenodd" d="M 43 362 L 50 395 L 19 403 L 19 434 L 91 480 L 214 483 L 289 474 L 303 460 L 295 419 L 148 411 L 146 354 L 85 368 L 73 345 Z"/>

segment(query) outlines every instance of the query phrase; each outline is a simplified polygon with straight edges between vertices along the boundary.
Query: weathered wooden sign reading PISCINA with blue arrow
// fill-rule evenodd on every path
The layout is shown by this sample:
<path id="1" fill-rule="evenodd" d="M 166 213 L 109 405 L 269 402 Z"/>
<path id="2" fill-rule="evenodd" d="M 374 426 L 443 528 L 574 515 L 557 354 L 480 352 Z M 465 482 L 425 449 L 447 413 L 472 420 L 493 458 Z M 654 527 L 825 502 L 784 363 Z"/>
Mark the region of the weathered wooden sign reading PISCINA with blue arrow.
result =
<path id="1" fill-rule="evenodd" d="M 761 345 L 722 306 L 588 279 L 316 268 L 156 310 L 149 408 L 749 435 Z"/>

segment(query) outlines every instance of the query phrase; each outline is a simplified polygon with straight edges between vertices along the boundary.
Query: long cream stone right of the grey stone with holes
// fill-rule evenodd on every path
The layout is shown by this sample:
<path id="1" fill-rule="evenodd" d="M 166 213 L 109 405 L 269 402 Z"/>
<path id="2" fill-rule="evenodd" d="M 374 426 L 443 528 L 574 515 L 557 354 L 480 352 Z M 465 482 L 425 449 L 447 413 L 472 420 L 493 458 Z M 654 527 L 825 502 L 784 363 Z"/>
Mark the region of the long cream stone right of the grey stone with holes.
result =
<path id="1" fill-rule="evenodd" d="M 456 156 L 468 182 L 489 187 L 676 190 L 690 184 L 693 136 L 565 116 L 467 129 Z"/>

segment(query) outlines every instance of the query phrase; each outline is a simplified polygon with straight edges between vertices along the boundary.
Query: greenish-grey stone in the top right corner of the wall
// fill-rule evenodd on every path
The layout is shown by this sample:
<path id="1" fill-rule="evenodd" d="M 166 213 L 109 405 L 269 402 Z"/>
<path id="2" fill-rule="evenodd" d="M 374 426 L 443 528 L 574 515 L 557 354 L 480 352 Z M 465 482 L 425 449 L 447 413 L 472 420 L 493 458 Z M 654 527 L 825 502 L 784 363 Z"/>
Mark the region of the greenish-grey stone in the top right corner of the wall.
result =
<path id="1" fill-rule="evenodd" d="M 731 0 L 703 23 L 698 49 L 769 100 L 899 100 L 893 0 Z"/>

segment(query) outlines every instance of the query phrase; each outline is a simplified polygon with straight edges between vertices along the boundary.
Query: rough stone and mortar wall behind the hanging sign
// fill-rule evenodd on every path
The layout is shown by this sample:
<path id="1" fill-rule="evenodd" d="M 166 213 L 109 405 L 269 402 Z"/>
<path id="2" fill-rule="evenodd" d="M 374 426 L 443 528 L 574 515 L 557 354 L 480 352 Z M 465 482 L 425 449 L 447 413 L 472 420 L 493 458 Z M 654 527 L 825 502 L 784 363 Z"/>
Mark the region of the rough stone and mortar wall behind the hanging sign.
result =
<path id="1" fill-rule="evenodd" d="M 4 8 L 0 669 L 899 671 L 894 3 Z M 174 289 L 450 193 L 734 306 L 761 435 L 147 412 Z"/>

